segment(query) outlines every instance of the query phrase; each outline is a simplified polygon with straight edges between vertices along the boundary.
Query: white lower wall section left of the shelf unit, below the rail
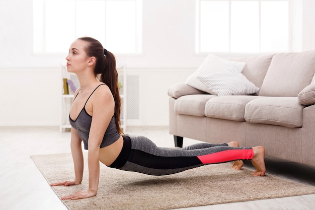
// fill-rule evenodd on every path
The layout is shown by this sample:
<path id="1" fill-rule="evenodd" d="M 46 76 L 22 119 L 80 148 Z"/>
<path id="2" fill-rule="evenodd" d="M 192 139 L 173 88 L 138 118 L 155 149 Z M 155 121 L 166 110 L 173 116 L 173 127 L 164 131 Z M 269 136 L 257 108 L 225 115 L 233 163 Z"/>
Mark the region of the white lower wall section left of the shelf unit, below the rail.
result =
<path id="1" fill-rule="evenodd" d="M 0 70 L 0 126 L 58 125 L 61 110 L 59 68 Z"/>

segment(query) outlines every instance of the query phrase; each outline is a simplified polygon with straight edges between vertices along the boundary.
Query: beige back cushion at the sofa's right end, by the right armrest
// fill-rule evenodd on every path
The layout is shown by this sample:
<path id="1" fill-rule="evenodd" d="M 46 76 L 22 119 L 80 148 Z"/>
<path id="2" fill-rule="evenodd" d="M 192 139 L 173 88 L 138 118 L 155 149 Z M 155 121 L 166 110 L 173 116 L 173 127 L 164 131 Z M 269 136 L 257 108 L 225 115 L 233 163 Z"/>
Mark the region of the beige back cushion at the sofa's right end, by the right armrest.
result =
<path id="1" fill-rule="evenodd" d="M 311 83 L 315 73 L 314 66 L 315 50 L 275 54 L 259 95 L 297 97 Z"/>

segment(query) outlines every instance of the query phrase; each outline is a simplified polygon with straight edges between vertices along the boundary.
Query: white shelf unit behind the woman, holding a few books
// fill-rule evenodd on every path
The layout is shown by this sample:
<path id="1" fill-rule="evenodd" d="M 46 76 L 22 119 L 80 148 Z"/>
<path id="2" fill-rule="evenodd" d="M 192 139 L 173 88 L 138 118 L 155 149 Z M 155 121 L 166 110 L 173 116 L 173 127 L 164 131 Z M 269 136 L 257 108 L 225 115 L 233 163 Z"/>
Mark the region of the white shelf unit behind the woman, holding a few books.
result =
<path id="1" fill-rule="evenodd" d="M 118 72 L 118 80 L 122 84 L 122 89 L 120 97 L 122 102 L 122 110 L 121 110 L 121 128 L 123 132 L 126 132 L 126 118 L 127 118 L 127 104 L 126 104 L 126 93 L 127 93 L 127 83 L 126 83 L 126 65 L 121 64 L 116 66 L 117 72 Z M 74 75 L 73 73 L 67 72 L 67 67 L 65 65 L 61 66 L 61 79 L 66 78 L 69 79 L 71 75 Z M 63 89 L 63 83 L 61 87 L 61 121 L 60 121 L 60 132 L 63 132 L 67 128 L 71 128 L 70 122 L 69 122 L 69 112 L 71 108 L 73 100 L 73 92 L 69 88 L 69 94 L 64 94 Z"/>

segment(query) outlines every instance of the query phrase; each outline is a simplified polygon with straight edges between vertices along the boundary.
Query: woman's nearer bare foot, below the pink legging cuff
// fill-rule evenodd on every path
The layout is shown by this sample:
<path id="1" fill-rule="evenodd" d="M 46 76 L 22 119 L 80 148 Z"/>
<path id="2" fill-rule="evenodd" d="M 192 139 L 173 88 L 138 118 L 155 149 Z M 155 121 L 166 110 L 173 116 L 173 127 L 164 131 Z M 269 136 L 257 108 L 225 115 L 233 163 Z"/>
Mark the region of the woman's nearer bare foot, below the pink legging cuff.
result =
<path id="1" fill-rule="evenodd" d="M 252 173 L 253 176 L 264 176 L 266 173 L 265 166 L 265 148 L 264 147 L 253 147 L 254 157 L 252 164 L 256 168 L 256 171 Z"/>

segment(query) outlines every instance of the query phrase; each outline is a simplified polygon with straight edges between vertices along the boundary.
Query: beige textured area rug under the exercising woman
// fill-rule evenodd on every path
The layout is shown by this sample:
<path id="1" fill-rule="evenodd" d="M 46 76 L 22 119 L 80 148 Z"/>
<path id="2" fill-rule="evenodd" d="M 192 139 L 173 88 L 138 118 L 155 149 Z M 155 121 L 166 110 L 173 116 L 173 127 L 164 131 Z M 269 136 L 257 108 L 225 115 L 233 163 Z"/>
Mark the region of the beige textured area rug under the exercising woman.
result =
<path id="1" fill-rule="evenodd" d="M 31 157 L 48 183 L 74 178 L 71 154 Z M 61 197 L 88 188 L 85 154 L 84 179 L 77 186 L 52 187 Z M 231 163 L 207 165 L 167 176 L 120 171 L 101 164 L 95 197 L 63 200 L 68 209 L 174 209 L 228 202 L 313 194 L 315 187 L 270 174 L 254 177 L 253 171 L 231 169 Z"/>

